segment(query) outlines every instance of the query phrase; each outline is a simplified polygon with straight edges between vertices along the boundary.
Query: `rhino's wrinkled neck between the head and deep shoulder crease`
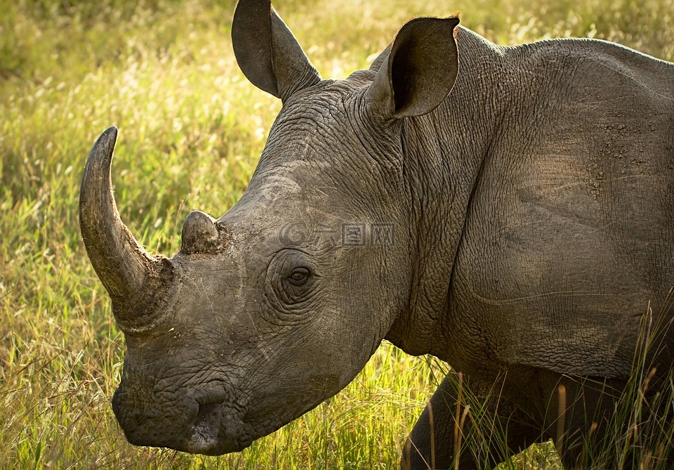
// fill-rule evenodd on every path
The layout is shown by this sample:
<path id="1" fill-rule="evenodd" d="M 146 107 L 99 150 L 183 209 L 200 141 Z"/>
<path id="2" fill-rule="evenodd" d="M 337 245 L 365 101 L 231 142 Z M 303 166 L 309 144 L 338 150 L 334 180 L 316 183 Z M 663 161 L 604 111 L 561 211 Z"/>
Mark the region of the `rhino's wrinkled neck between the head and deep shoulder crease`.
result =
<path id="1" fill-rule="evenodd" d="M 447 325 L 454 262 L 504 106 L 501 86 L 494 83 L 505 80 L 501 48 L 463 28 L 457 39 L 460 69 L 454 89 L 436 110 L 403 125 L 414 275 L 409 309 L 386 337 L 407 353 L 444 360 L 451 355 L 451 339 L 439 332 L 456 331 L 456 325 Z"/>

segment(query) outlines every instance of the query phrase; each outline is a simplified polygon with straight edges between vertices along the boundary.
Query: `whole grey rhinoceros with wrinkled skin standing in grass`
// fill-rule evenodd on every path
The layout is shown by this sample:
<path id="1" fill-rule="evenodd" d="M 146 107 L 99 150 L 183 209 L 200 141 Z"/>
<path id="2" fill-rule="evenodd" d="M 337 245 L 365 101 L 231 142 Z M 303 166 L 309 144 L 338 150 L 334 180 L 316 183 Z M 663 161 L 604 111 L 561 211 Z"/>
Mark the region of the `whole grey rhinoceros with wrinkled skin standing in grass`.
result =
<path id="1" fill-rule="evenodd" d="M 171 259 L 119 220 L 117 130 L 95 143 L 81 229 L 126 337 L 112 407 L 131 443 L 242 450 L 388 339 L 498 390 L 510 451 L 553 437 L 574 465 L 588 431 L 574 410 L 612 407 L 583 380 L 619 389 L 649 302 L 670 319 L 674 65 L 602 41 L 500 47 L 457 24 L 412 20 L 370 70 L 331 81 L 268 1 L 240 2 L 239 65 L 283 108 L 241 200 L 217 221 L 192 212 Z M 343 242 L 349 223 L 364 246 Z M 395 240 L 372 238 L 377 223 Z M 666 371 L 672 335 L 659 339 Z M 563 445 L 560 384 L 581 403 Z M 433 456 L 426 410 L 404 468 L 452 465 L 456 399 L 444 382 Z"/>

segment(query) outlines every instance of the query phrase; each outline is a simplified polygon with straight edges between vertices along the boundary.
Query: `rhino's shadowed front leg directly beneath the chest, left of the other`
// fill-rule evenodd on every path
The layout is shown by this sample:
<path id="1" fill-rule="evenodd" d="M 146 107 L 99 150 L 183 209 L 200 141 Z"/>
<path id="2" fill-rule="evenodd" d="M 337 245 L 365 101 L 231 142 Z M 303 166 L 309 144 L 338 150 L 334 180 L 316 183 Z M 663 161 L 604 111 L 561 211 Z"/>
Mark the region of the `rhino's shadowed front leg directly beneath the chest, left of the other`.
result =
<path id="1" fill-rule="evenodd" d="M 461 449 L 459 469 L 490 468 L 541 442 L 540 427 L 498 395 L 498 386 L 449 374 L 407 438 L 402 469 L 454 469 L 455 445 Z M 457 435 L 461 436 L 458 443 Z"/>

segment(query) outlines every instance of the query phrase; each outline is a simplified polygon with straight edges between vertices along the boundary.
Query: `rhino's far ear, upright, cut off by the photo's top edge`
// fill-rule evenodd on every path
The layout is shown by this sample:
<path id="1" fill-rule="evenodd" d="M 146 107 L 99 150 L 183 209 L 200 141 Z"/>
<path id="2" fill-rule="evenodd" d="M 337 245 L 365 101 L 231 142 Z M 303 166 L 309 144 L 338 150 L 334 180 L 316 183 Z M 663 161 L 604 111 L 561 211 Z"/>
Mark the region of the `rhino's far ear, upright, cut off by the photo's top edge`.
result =
<path id="1" fill-rule="evenodd" d="M 251 83 L 282 100 L 321 79 L 270 0 L 239 0 L 232 44 Z"/>

